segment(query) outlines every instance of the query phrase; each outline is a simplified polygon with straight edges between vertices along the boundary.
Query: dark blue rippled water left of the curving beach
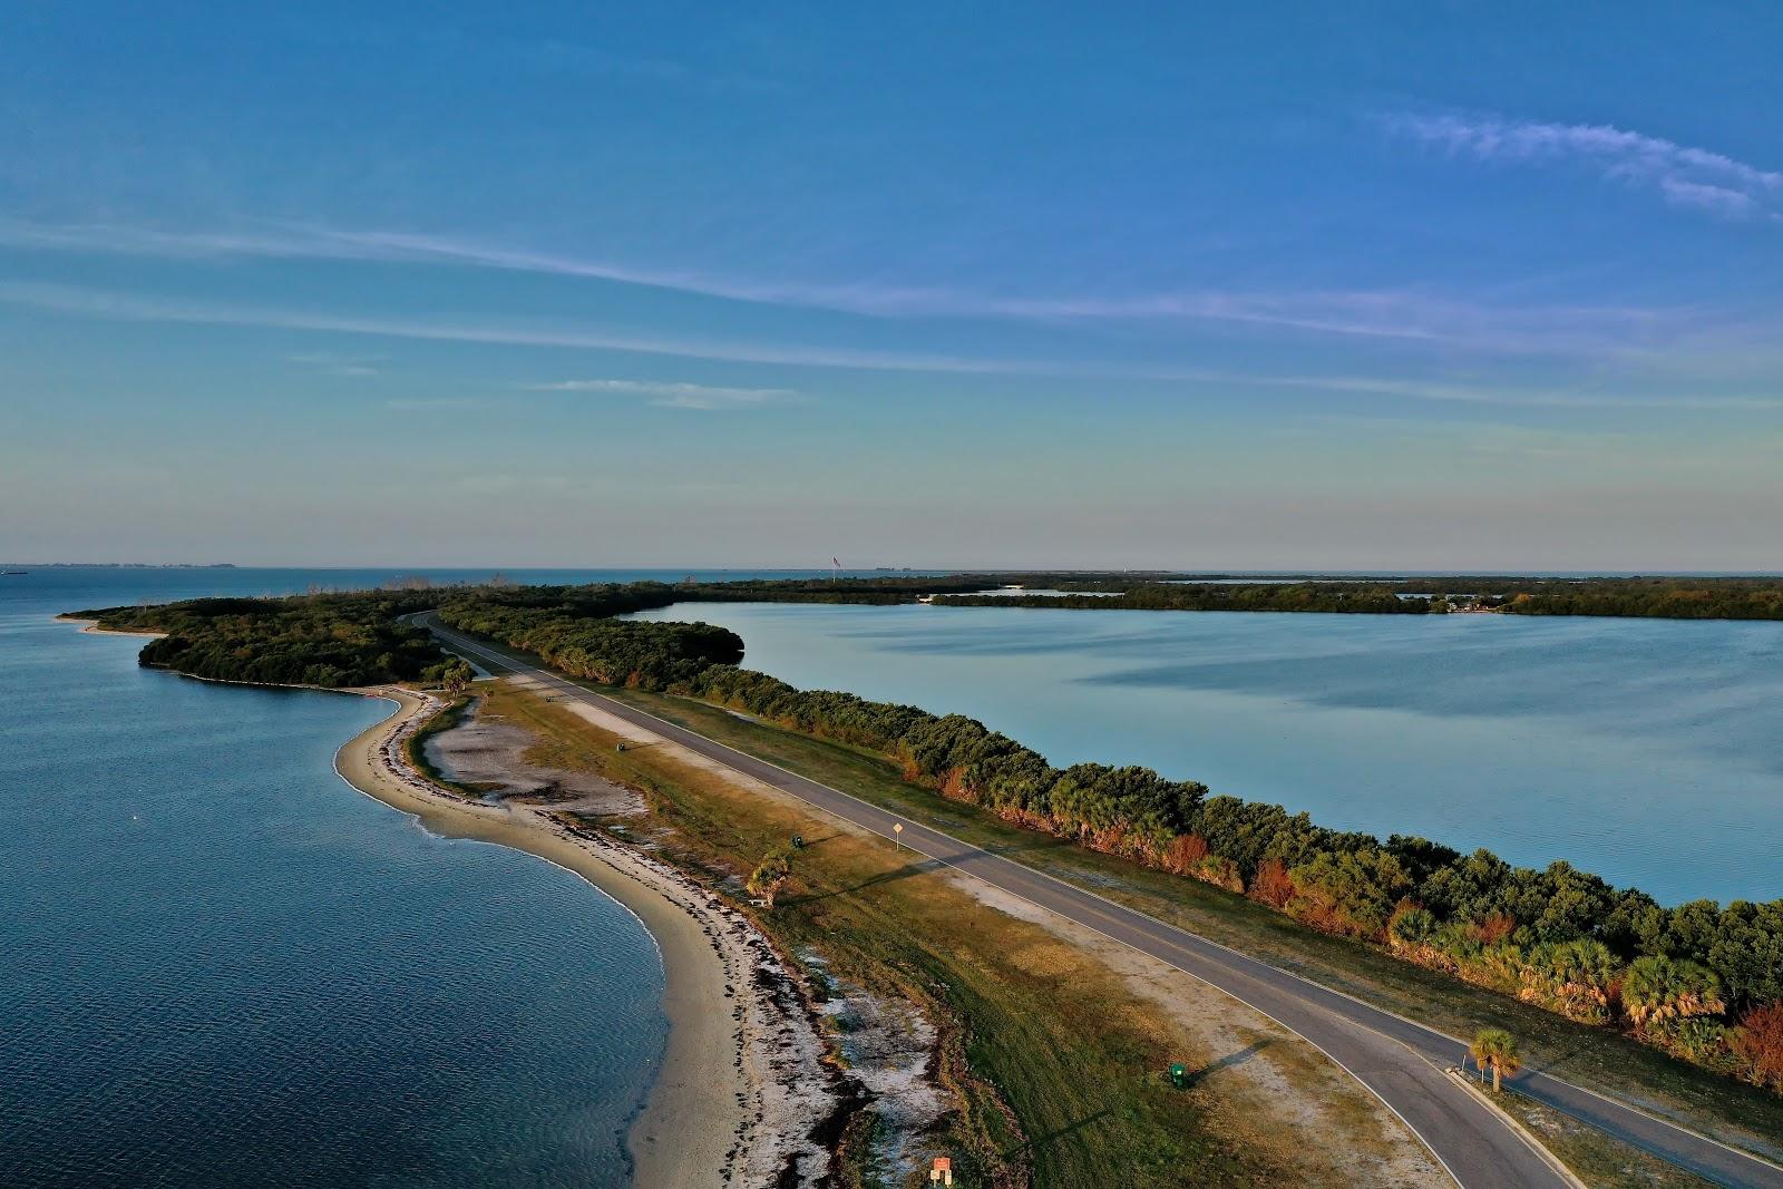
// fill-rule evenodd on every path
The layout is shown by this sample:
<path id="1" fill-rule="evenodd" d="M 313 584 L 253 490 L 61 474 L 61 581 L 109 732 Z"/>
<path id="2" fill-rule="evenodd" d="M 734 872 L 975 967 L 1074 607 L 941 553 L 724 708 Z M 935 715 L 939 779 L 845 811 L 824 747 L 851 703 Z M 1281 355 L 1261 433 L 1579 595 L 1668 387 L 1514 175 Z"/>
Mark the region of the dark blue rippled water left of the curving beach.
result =
<path id="1" fill-rule="evenodd" d="M 387 704 L 48 619 L 312 579 L 0 578 L 0 1184 L 628 1184 L 667 1037 L 629 913 L 348 788 Z"/>

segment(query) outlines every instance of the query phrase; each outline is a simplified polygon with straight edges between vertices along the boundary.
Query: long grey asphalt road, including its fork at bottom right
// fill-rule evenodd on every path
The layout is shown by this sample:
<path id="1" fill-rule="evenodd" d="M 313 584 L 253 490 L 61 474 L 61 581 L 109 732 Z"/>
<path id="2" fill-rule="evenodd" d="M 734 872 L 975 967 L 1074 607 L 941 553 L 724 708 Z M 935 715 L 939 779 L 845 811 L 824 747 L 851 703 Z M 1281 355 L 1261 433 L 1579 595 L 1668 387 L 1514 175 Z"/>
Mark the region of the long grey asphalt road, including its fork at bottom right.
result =
<path id="1" fill-rule="evenodd" d="M 918 822 L 899 818 L 858 797 L 818 784 L 765 759 L 708 740 L 672 722 L 604 697 L 528 663 L 506 649 L 471 640 L 442 627 L 431 615 L 417 617 L 448 647 L 492 672 L 515 672 L 603 711 L 626 718 L 708 759 L 865 827 L 893 838 L 902 824 L 902 845 L 968 875 L 1093 929 L 1186 975 L 1220 988 L 1232 998 L 1296 1032 L 1373 1091 L 1410 1127 L 1464 1189 L 1553 1189 L 1567 1185 L 1514 1127 L 1446 1073 L 1466 1043 L 1419 1023 L 1371 1007 L 1330 988 L 1277 970 L 1216 941 L 1145 913 L 1105 900 L 1034 868 L 991 854 Z M 1557 1077 L 1528 1070 L 1517 1089 L 1599 1130 L 1715 1184 L 1738 1189 L 1783 1189 L 1783 1168 L 1728 1148 L 1633 1107 L 1603 1098 Z"/>

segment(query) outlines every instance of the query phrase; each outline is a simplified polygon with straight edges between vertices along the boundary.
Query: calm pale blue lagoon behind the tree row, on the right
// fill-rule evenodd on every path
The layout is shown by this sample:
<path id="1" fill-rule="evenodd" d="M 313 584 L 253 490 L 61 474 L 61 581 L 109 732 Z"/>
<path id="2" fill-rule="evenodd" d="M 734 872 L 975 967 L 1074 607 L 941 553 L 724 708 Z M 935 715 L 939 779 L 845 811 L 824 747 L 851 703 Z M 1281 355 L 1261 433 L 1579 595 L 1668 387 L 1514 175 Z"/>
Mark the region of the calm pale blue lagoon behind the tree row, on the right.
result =
<path id="1" fill-rule="evenodd" d="M 959 711 L 1344 829 L 1783 895 L 1783 624 L 683 604 L 806 688 Z"/>

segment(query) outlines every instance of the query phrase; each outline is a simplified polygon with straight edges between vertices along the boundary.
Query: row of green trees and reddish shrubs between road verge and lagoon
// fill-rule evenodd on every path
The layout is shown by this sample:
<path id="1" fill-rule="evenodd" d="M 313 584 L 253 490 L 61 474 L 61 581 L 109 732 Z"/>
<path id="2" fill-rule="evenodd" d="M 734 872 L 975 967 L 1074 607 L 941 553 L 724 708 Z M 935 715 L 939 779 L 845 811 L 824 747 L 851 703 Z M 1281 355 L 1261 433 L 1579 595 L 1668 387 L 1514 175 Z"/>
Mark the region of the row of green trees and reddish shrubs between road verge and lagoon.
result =
<path id="1" fill-rule="evenodd" d="M 1218 884 L 1325 932 L 1610 1025 L 1783 1089 L 1783 900 L 1665 907 L 1569 863 L 1332 831 L 1150 768 L 1072 765 L 963 715 L 799 690 L 720 665 L 672 693 L 892 758 L 904 777 L 1029 829 Z"/>

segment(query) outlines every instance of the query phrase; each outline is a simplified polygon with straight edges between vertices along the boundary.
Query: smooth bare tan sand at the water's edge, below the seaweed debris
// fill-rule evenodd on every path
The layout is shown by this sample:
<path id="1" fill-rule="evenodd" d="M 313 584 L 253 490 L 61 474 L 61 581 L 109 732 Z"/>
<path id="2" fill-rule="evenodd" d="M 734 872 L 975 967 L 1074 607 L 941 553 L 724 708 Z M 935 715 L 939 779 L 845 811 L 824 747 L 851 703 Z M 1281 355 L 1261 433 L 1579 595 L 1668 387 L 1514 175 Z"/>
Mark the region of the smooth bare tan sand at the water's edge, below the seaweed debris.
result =
<path id="1" fill-rule="evenodd" d="M 431 699 L 394 688 L 353 692 L 396 702 L 396 709 L 341 745 L 335 772 L 342 781 L 414 815 L 437 834 L 512 847 L 574 872 L 651 934 L 663 963 L 669 1043 L 628 1136 L 633 1184 L 638 1189 L 733 1184 L 756 1130 L 745 1107 L 756 1095 L 738 1055 L 736 1020 L 727 1011 L 740 979 L 736 955 L 726 952 L 711 922 L 701 920 L 706 913 L 699 909 L 706 906 L 699 900 L 706 895 L 613 843 L 572 834 L 537 809 L 467 802 L 399 779 L 383 756 L 405 727 L 431 713 Z"/>

